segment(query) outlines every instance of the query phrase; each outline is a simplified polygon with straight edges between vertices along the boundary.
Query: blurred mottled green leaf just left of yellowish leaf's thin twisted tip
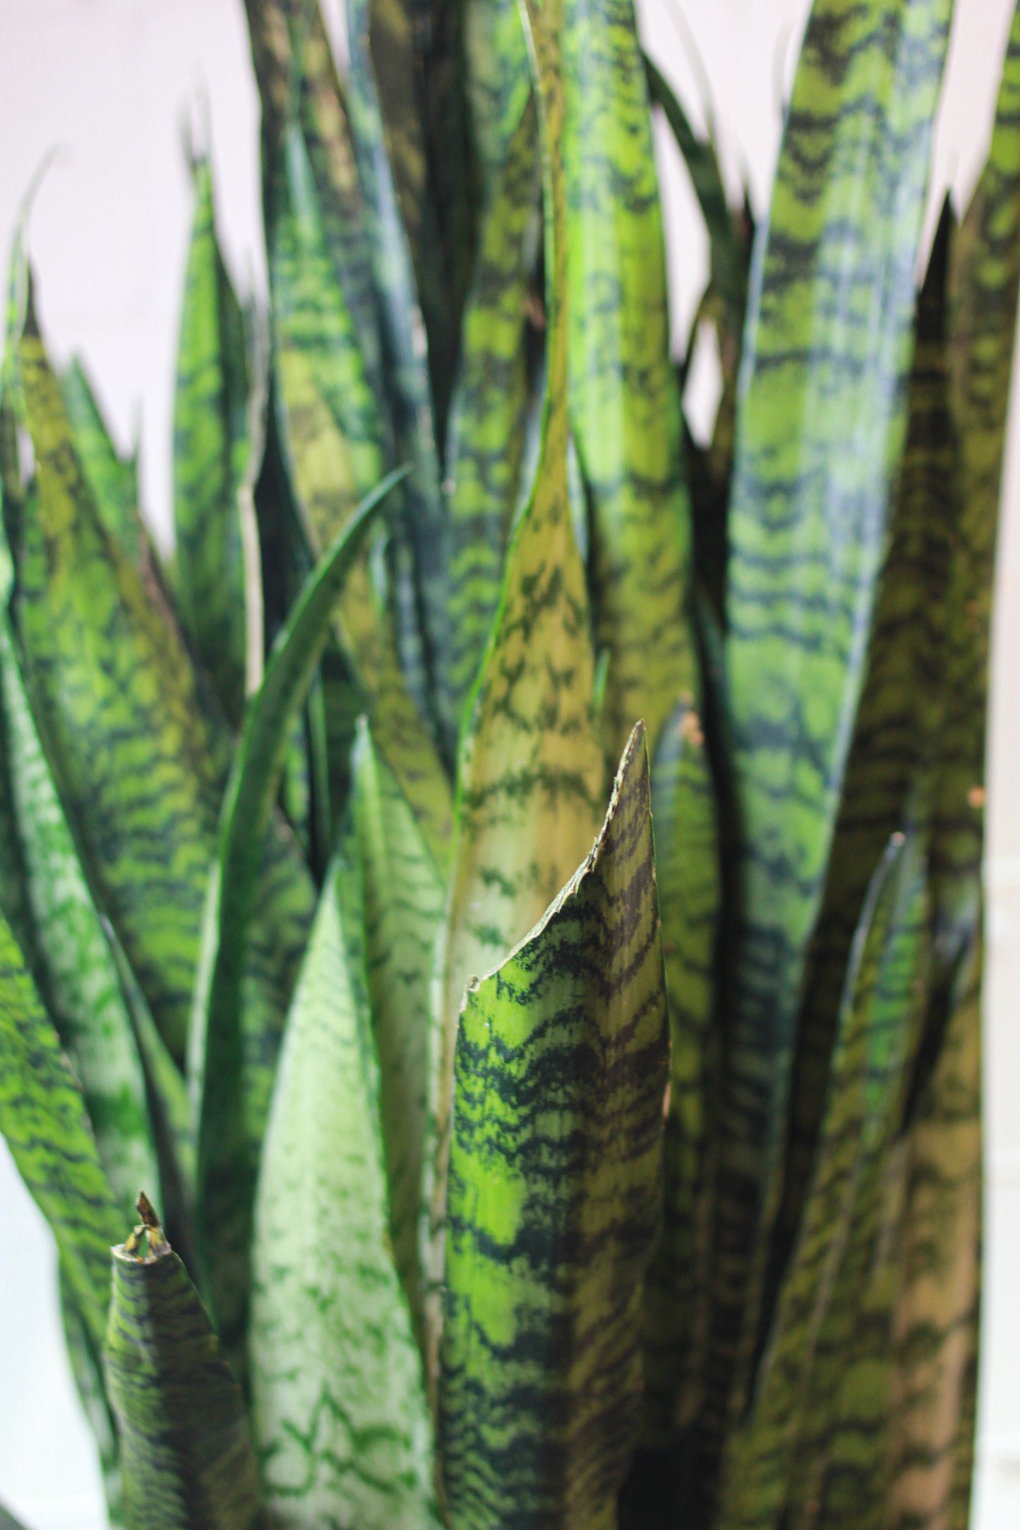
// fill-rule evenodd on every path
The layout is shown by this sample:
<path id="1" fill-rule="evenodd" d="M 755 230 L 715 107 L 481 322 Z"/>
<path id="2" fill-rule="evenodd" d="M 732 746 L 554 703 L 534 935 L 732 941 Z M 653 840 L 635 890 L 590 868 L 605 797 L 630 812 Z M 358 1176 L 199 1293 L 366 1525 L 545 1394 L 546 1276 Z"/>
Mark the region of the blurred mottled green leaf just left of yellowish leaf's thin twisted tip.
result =
<path id="1" fill-rule="evenodd" d="M 520 28 L 520 17 L 517 17 Z M 447 441 L 451 708 L 460 718 L 499 607 L 529 404 L 525 306 L 540 213 L 538 122 L 525 96 L 482 220 Z"/>

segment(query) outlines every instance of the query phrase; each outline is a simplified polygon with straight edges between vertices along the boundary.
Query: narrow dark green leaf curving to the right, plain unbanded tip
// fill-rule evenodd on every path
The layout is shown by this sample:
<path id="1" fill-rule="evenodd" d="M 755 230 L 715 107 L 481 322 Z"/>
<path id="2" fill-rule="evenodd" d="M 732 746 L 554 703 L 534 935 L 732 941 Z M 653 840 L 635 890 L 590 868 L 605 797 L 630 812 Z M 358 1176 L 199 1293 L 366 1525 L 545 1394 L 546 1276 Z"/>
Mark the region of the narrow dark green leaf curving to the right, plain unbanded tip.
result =
<path id="1" fill-rule="evenodd" d="M 245 967 L 258 913 L 260 860 L 291 744 L 339 588 L 401 474 L 369 496 L 309 577 L 251 702 L 223 799 L 210 877 L 190 1036 L 197 1121 L 196 1218 L 208 1296 L 225 1343 L 243 1331 L 251 1212 L 274 1057 L 246 1059 Z M 252 1088 L 257 1097 L 251 1099 Z"/>

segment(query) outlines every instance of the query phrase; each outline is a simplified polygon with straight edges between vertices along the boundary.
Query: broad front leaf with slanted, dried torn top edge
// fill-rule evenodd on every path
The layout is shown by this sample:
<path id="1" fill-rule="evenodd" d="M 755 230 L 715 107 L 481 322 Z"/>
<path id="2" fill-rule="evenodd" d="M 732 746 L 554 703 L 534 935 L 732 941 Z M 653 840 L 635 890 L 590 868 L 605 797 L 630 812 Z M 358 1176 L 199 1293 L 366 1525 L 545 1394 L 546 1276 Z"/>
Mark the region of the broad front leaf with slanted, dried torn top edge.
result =
<path id="1" fill-rule="evenodd" d="M 667 1066 L 639 727 L 593 849 L 471 984 L 460 1022 L 440 1391 L 453 1530 L 616 1524 Z"/>

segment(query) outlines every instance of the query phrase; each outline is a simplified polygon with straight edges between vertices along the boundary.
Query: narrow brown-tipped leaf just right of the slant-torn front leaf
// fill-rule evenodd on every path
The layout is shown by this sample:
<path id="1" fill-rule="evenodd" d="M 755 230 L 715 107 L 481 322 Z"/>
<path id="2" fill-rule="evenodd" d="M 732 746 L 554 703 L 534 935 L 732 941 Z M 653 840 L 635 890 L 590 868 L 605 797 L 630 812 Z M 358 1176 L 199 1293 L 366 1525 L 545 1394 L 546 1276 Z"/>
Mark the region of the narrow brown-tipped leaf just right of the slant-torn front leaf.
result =
<path id="1" fill-rule="evenodd" d="M 679 704 L 651 771 L 651 815 L 670 1002 L 664 1219 L 645 1294 L 642 1443 L 671 1447 L 690 1423 L 696 1304 L 711 1282 L 708 1149 L 722 1077 L 716 1014 L 720 843 L 702 721 Z"/>

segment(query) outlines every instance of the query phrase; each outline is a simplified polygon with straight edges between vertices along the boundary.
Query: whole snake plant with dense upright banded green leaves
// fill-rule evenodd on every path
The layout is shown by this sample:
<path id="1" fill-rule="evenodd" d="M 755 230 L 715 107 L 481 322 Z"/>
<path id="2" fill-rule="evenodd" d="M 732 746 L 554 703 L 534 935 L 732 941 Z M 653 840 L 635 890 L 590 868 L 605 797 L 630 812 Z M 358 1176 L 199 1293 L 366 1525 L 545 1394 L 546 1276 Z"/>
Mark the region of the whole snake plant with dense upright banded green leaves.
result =
<path id="1" fill-rule="evenodd" d="M 962 1530 L 1020 11 L 927 262 L 950 0 L 815 0 L 757 230 L 632 0 L 246 14 L 173 558 L 11 263 L 0 1129 L 110 1522 Z"/>

